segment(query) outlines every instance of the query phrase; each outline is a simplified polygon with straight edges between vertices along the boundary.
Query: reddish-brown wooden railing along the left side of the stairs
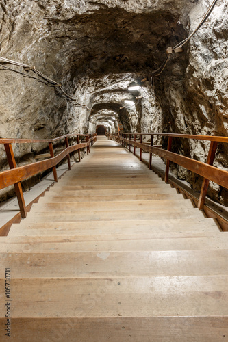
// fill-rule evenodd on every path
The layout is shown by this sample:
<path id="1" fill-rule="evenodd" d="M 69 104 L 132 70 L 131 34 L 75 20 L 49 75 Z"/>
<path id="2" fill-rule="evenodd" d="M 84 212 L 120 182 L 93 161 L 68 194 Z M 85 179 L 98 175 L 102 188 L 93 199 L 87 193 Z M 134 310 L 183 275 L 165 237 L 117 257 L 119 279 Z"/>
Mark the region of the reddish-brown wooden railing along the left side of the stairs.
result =
<path id="1" fill-rule="evenodd" d="M 68 138 L 75 137 L 77 138 L 77 144 L 73 144 L 69 146 Z M 79 139 L 84 139 L 81 143 L 79 143 Z M 57 142 L 58 140 L 64 139 L 65 148 L 58 155 L 54 155 L 53 151 L 53 142 Z M 8 163 L 10 166 L 10 170 L 6 170 L 0 172 L 0 189 L 4 189 L 5 187 L 9 187 L 10 185 L 14 185 L 16 196 L 18 198 L 18 204 L 21 211 L 21 217 L 25 218 L 27 215 L 26 207 L 25 207 L 25 199 L 23 196 L 23 191 L 21 187 L 21 181 L 28 179 L 39 172 L 43 172 L 52 168 L 53 176 L 55 182 L 58 182 L 58 176 L 56 171 L 56 166 L 62 159 L 67 157 L 68 161 L 68 170 L 71 170 L 71 161 L 70 161 L 70 153 L 78 150 L 79 161 L 81 161 L 81 148 L 87 148 L 87 154 L 90 152 L 90 146 L 94 144 L 97 140 L 97 134 L 68 134 L 63 135 L 62 137 L 56 137 L 55 139 L 50 140 L 32 140 L 32 139 L 0 139 L 0 144 L 4 144 L 5 153 L 8 159 Z M 12 144 L 29 144 L 29 143 L 41 143 L 46 142 L 49 144 L 49 152 L 50 158 L 42 161 L 37 161 L 36 163 L 31 163 L 25 166 L 16 166 L 16 160 L 14 157 L 14 151 L 12 148 Z"/>

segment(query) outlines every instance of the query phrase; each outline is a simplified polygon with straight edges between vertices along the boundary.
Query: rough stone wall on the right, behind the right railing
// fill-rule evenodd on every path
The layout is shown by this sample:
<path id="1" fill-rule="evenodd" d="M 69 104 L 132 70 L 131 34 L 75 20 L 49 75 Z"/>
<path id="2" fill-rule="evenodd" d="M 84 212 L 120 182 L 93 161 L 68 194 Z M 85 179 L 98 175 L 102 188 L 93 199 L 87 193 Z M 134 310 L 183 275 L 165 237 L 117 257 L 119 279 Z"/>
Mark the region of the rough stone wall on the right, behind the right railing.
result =
<path id="1" fill-rule="evenodd" d="M 211 1 L 200 1 L 188 16 L 191 32 Z M 200 135 L 227 136 L 227 2 L 220 0 L 205 25 L 185 47 L 184 57 L 174 57 L 160 79 L 155 79 L 155 93 L 166 121 L 163 131 Z M 162 83 L 161 83 L 162 79 Z M 165 94 L 165 96 L 164 96 Z M 205 161 L 210 142 L 175 140 L 173 148 L 193 159 Z M 219 144 L 214 165 L 228 170 L 228 146 Z M 197 191 L 201 177 L 179 166 L 173 172 Z M 228 205 L 227 189 L 210 182 L 208 195 Z"/>

